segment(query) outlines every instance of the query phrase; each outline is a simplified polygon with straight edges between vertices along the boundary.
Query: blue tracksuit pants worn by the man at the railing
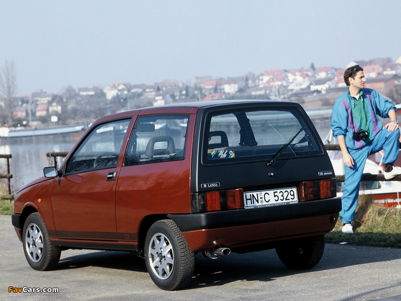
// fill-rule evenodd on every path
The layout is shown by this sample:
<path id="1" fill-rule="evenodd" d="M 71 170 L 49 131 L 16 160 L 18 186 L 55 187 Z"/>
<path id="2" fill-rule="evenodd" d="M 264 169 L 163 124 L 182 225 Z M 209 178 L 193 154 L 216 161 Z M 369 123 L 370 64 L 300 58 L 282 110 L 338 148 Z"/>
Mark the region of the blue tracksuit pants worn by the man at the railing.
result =
<path id="1" fill-rule="evenodd" d="M 354 167 L 344 165 L 345 181 L 342 186 L 342 210 L 340 219 L 342 222 L 350 223 L 354 220 L 356 205 L 358 204 L 359 184 L 367 156 L 383 149 L 383 163 L 394 163 L 398 158 L 399 130 L 388 131 L 386 128 L 380 130 L 373 141 L 358 149 L 348 149 L 354 161 Z"/>

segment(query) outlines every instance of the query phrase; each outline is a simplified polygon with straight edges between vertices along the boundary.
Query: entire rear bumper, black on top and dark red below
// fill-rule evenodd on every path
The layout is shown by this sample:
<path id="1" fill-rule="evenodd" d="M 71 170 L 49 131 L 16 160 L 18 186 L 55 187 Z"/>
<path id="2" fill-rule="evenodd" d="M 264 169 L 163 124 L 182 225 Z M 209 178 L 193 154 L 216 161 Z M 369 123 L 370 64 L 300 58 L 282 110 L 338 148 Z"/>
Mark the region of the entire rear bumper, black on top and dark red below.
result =
<path id="1" fill-rule="evenodd" d="M 241 247 L 330 232 L 341 199 L 197 214 L 171 214 L 193 252 Z"/>

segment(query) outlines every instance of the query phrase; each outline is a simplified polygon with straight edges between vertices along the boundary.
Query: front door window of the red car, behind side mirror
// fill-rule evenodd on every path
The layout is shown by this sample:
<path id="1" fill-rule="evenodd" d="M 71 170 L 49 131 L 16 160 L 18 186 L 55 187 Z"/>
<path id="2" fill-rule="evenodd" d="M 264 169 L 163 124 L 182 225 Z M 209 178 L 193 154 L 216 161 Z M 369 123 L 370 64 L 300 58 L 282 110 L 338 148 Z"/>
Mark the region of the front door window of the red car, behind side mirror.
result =
<path id="1" fill-rule="evenodd" d="M 118 120 L 94 128 L 71 157 L 66 173 L 117 167 L 129 122 Z"/>

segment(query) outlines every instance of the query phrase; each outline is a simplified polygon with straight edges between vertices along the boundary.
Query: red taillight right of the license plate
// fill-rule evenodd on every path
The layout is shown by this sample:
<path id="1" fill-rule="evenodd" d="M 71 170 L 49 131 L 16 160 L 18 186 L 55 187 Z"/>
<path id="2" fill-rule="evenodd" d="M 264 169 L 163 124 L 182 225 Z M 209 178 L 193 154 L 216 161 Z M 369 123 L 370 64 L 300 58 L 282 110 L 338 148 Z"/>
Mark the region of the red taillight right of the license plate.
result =
<path id="1" fill-rule="evenodd" d="M 334 198 L 336 196 L 335 179 L 301 182 L 299 201 L 312 201 Z"/>

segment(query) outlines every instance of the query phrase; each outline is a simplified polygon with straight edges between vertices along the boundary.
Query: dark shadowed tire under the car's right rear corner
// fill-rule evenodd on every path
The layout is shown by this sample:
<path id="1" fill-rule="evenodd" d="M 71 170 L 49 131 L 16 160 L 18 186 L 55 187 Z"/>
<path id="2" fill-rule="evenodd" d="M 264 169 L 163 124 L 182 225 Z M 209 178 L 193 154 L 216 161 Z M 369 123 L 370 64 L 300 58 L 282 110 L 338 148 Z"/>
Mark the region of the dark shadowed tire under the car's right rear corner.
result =
<path id="1" fill-rule="evenodd" d="M 303 270 L 319 263 L 324 252 L 324 235 L 298 238 L 276 247 L 281 262 L 291 269 Z"/>

